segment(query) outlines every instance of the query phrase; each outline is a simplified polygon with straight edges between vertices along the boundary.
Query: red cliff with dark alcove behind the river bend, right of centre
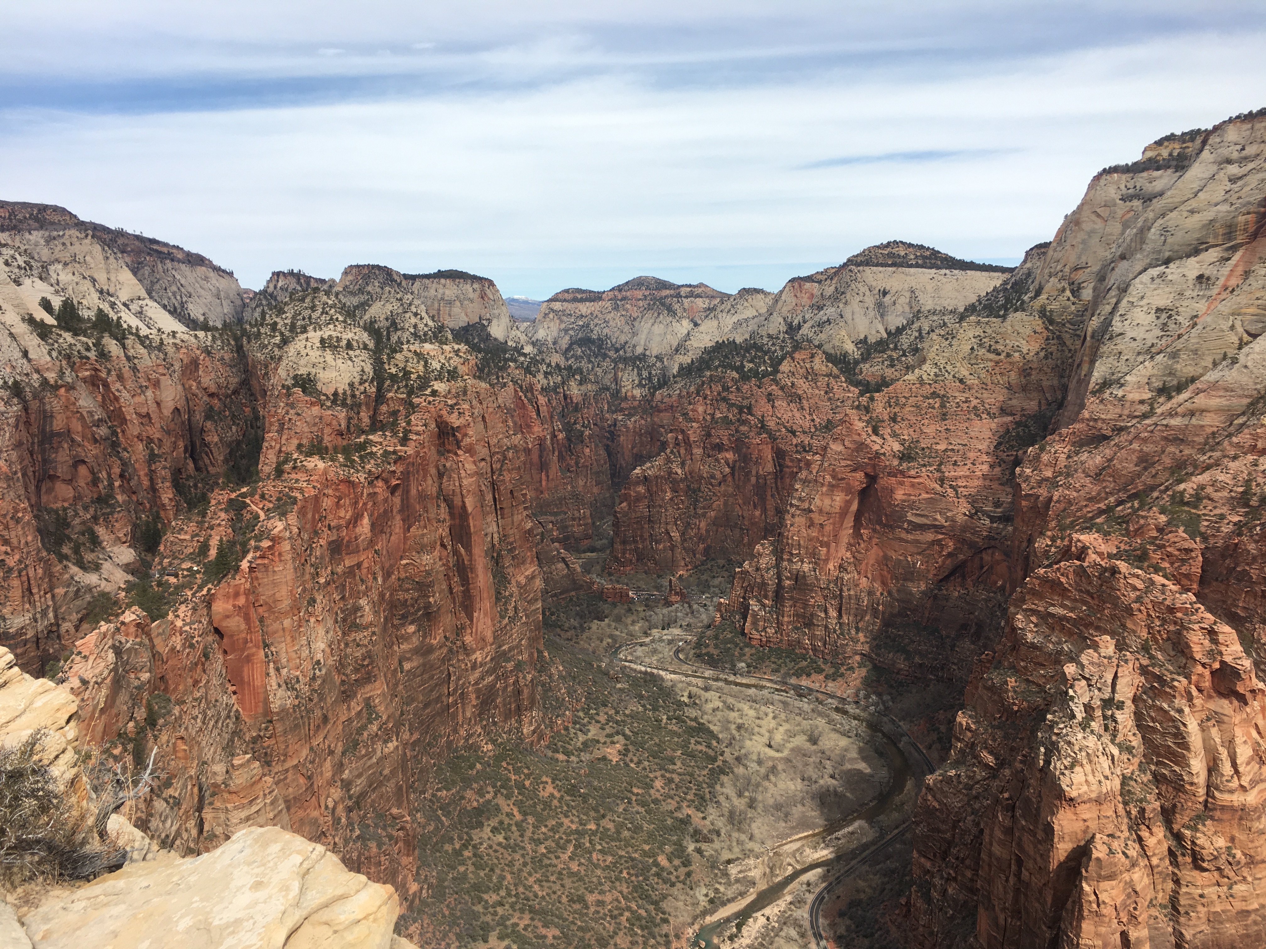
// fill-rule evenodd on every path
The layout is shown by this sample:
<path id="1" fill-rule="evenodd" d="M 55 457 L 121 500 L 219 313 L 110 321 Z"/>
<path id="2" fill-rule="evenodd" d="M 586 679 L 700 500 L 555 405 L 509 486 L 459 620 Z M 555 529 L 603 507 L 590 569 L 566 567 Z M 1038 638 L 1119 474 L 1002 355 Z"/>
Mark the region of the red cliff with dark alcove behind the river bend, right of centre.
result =
<path id="1" fill-rule="evenodd" d="M 1069 307 L 927 313 L 865 344 L 856 375 L 801 349 L 680 376 L 653 399 L 657 453 L 623 488 L 608 568 L 751 558 L 722 612 L 752 642 L 965 678 L 1012 582 L 1015 452 L 1053 415 L 1077 330 Z"/>

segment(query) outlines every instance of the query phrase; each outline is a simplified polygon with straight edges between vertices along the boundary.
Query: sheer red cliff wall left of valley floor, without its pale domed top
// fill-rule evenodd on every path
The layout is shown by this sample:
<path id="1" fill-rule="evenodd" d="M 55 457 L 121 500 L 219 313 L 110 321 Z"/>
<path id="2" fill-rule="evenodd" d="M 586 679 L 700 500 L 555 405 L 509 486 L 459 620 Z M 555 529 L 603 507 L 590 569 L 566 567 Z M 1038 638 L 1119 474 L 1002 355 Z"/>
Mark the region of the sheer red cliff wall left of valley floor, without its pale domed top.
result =
<path id="1" fill-rule="evenodd" d="M 408 893 L 417 771 L 489 729 L 539 730 L 522 437 L 494 391 L 465 386 L 460 401 L 420 400 L 395 437 L 363 433 L 370 458 L 282 461 L 247 499 L 218 492 L 208 523 L 166 538 L 161 563 L 182 573 L 203 538 L 211 550 L 253 540 L 230 576 L 151 628 L 156 672 L 128 679 L 130 714 L 113 719 L 172 776 L 133 815 L 163 845 L 197 852 L 243 820 L 284 819 Z M 268 418 L 292 397 L 279 390 Z M 266 468 L 291 437 L 313 440 L 271 429 Z M 87 707 L 118 707 L 95 682 Z M 170 707 L 157 721 L 156 701 Z"/>

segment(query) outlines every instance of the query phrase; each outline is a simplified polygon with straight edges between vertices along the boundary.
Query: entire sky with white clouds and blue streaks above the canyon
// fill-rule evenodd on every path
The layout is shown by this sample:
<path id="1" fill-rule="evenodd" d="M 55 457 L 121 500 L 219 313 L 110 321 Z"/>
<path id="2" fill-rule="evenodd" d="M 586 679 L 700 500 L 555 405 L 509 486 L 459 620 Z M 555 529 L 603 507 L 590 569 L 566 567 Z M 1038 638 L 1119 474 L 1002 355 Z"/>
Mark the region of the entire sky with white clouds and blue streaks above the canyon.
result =
<path id="1" fill-rule="evenodd" d="M 1090 177 L 1266 106 L 1261 0 L 0 0 L 0 199 L 273 270 L 777 290 L 1014 263 Z"/>

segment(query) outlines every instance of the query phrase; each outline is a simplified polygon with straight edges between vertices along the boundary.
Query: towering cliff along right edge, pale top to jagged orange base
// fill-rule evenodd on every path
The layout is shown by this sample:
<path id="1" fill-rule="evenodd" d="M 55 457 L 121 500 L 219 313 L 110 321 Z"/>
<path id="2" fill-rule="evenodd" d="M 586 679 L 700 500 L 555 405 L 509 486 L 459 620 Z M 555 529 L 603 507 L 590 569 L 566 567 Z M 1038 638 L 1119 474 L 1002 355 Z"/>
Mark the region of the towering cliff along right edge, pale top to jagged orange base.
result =
<path id="1" fill-rule="evenodd" d="M 1188 138 L 1098 176 L 1034 275 L 1085 330 L 1017 469 L 1029 578 L 920 802 L 920 946 L 1262 939 L 1266 118 Z"/>

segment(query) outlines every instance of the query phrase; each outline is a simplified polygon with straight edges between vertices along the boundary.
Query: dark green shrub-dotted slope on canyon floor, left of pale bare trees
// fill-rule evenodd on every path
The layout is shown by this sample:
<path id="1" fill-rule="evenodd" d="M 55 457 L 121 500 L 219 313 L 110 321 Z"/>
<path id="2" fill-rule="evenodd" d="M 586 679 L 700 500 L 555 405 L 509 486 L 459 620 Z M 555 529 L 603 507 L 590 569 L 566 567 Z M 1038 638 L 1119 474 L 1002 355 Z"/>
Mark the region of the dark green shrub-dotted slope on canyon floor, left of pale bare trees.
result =
<path id="1" fill-rule="evenodd" d="M 430 773 L 414 817 L 427 895 L 405 920 L 427 944 L 667 945 L 715 872 L 698 841 L 728 769 L 717 734 L 658 679 L 549 649 L 546 691 L 571 723 L 543 748 L 500 743 Z"/>

